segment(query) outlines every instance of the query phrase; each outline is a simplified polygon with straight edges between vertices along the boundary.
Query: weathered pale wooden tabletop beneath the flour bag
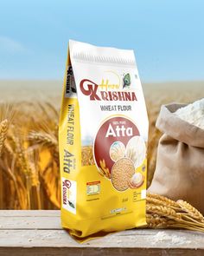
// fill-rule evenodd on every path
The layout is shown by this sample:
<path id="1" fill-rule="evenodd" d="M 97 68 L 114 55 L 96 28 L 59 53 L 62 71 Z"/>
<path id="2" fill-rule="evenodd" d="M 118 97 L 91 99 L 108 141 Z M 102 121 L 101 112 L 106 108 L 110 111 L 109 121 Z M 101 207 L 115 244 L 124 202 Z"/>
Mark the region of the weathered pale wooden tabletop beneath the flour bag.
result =
<path id="1" fill-rule="evenodd" d="M 204 255 L 204 233 L 135 229 L 82 245 L 61 229 L 60 211 L 0 211 L 0 255 Z"/>

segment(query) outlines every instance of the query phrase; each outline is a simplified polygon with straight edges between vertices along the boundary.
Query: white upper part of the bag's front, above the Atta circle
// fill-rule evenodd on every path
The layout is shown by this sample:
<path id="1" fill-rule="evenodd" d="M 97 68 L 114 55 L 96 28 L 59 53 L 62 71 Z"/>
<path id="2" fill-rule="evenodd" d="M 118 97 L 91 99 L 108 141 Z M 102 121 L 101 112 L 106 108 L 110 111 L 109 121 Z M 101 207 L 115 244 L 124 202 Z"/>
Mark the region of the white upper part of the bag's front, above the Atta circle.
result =
<path id="1" fill-rule="evenodd" d="M 112 115 L 131 118 L 143 141 L 147 141 L 148 116 L 133 50 L 95 47 L 72 40 L 69 46 L 80 103 L 82 145 L 92 145 L 99 124 Z M 131 76 L 131 86 L 127 88 L 123 84 L 125 74 Z M 137 95 L 137 100 L 125 100 L 126 93 Z"/>

